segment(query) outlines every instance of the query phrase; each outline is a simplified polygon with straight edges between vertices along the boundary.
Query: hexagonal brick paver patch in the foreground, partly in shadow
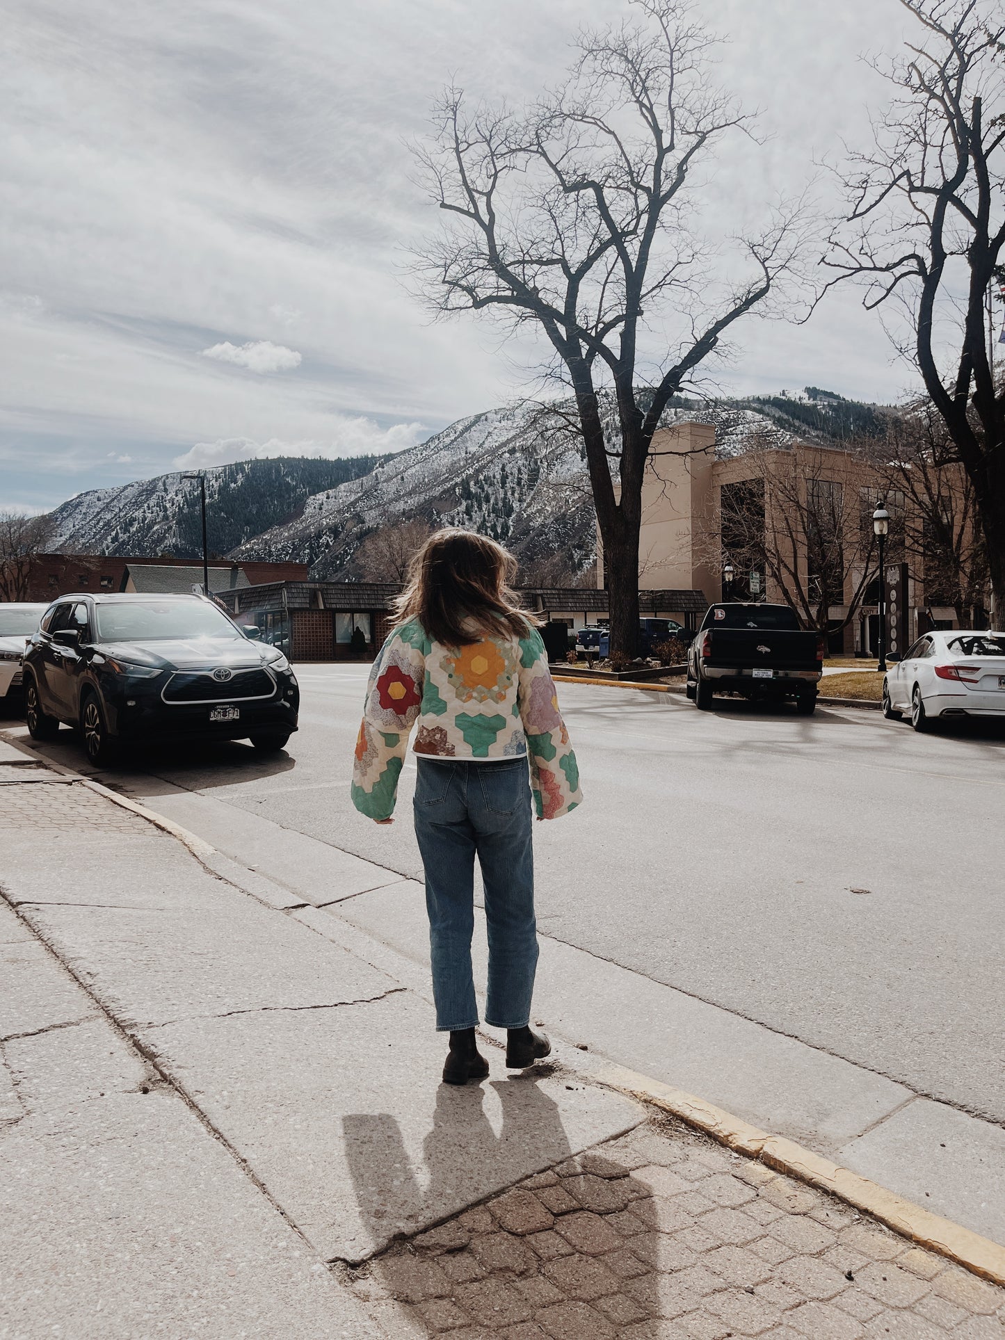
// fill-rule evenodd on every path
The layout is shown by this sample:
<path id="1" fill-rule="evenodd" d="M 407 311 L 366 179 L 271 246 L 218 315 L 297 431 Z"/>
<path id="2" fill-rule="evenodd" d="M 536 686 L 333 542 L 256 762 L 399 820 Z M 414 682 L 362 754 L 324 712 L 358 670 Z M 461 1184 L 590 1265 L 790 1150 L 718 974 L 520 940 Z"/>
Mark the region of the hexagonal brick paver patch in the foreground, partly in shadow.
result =
<path id="1" fill-rule="evenodd" d="M 402 1340 L 1005 1340 L 1005 1290 L 661 1119 L 348 1277 Z"/>

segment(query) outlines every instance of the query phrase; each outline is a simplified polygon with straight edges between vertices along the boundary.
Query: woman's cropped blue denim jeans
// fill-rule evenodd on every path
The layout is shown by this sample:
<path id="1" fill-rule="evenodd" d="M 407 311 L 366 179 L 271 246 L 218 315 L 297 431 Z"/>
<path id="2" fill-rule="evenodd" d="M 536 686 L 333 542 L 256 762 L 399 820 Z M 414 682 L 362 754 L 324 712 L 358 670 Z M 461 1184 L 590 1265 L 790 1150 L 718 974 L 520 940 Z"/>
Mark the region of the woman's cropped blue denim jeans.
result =
<path id="1" fill-rule="evenodd" d="M 418 760 L 415 836 L 426 870 L 437 1030 L 474 1028 L 474 856 L 485 886 L 489 989 L 485 1022 L 523 1028 L 537 966 L 527 758 Z"/>

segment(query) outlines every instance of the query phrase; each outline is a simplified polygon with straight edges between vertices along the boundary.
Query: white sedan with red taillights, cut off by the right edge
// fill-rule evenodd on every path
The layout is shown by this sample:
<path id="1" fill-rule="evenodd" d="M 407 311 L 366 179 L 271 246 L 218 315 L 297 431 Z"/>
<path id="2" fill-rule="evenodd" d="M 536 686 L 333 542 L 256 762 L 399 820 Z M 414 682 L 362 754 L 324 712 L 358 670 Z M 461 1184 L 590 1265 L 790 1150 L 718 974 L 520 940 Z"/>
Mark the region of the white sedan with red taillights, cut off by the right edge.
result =
<path id="1" fill-rule="evenodd" d="M 883 679 L 883 716 L 1005 717 L 1005 632 L 926 632 Z"/>

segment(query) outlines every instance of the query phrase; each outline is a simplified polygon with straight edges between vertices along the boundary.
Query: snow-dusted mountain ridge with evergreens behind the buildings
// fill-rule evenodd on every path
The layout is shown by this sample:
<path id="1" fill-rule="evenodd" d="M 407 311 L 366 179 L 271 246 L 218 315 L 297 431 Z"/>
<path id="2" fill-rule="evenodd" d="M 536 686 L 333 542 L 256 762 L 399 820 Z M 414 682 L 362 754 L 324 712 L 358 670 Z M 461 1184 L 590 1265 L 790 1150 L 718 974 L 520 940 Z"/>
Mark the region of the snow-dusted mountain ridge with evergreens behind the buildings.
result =
<path id="1" fill-rule="evenodd" d="M 717 452 L 752 440 L 836 442 L 875 431 L 880 410 L 816 387 L 746 401 L 677 401 L 663 422 L 716 426 Z M 193 482 L 180 474 L 92 489 L 54 513 L 54 548 L 157 555 L 201 552 Z M 378 461 L 243 461 L 206 470 L 209 544 L 236 559 L 295 560 L 316 578 L 359 576 L 367 535 L 421 517 L 466 525 L 523 563 L 595 557 L 595 516 L 582 442 L 559 410 L 520 405 L 458 419 L 419 446 Z"/>

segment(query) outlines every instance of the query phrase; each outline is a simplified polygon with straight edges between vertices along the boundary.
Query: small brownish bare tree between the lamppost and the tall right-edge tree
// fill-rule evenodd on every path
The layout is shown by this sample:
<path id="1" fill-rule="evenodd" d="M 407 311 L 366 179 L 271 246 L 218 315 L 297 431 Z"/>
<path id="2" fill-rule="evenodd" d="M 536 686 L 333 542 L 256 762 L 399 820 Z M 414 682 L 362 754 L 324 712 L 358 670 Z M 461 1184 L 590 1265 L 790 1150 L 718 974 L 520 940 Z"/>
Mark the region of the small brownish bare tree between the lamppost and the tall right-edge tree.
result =
<path id="1" fill-rule="evenodd" d="M 962 627 L 984 616 L 988 548 L 973 484 L 945 419 L 929 399 L 891 415 L 887 431 L 860 445 L 876 476 L 876 497 L 899 496 L 903 543 L 921 559 L 925 603 L 953 606 Z M 915 574 L 921 576 L 922 574 Z"/>

